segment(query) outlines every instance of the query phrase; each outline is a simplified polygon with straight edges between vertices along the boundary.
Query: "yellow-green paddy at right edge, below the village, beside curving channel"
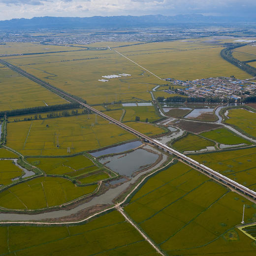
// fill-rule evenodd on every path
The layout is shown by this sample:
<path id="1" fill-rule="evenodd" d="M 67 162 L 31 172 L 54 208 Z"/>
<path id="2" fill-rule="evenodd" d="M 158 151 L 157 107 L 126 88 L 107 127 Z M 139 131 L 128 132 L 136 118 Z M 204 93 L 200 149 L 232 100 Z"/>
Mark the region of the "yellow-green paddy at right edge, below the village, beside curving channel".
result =
<path id="1" fill-rule="evenodd" d="M 245 109 L 229 109 L 225 123 L 236 126 L 249 135 L 256 137 L 256 113 Z"/>

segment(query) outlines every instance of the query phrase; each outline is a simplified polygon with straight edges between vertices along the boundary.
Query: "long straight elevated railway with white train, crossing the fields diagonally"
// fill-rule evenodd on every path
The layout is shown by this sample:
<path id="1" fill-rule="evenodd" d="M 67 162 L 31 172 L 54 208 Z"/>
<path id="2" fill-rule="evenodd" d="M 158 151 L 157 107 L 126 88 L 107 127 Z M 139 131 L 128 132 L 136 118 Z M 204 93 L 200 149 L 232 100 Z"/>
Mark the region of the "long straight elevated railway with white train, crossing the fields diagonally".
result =
<path id="1" fill-rule="evenodd" d="M 20 69 L 20 68 L 18 68 L 18 67 L 16 67 L 16 66 L 14 66 L 14 65 L 12 65 L 12 64 L 9 64 L 9 63 L 7 63 L 7 62 L 5 62 L 5 61 L 2 61 L 2 60 L 0 60 L 0 63 L 6 65 L 6 66 L 8 66 L 8 67 L 10 67 L 10 68 L 13 69 L 14 71 L 16 71 L 16 72 L 18 72 L 18 73 L 20 73 L 20 74 L 26 76 L 27 78 L 30 78 L 32 81 L 34 81 L 34 82 L 36 82 L 36 83 L 38 83 L 38 84 L 40 84 L 40 85 L 42 85 L 42 86 L 44 86 L 44 87 L 50 89 L 51 91 L 54 90 L 55 92 L 58 92 L 59 94 L 64 95 L 65 97 L 68 97 L 68 98 L 70 98 L 70 99 L 72 99 L 72 100 L 78 102 L 79 104 L 81 104 L 82 106 L 86 107 L 87 109 L 90 109 L 91 111 L 93 111 L 93 112 L 96 113 L 97 115 L 101 116 L 102 118 L 104 118 L 104 119 L 106 119 L 106 120 L 108 120 L 108 121 L 114 123 L 115 125 L 117 125 L 117 126 L 123 128 L 123 129 L 126 129 L 127 131 L 133 133 L 134 135 L 138 136 L 139 138 L 143 139 L 144 141 L 149 142 L 149 143 L 151 143 L 151 144 L 153 144 L 153 145 L 158 146 L 159 148 L 163 149 L 164 151 L 166 151 L 166 152 L 168 152 L 168 153 L 170 153 L 170 154 L 173 154 L 173 155 L 175 155 L 176 157 L 178 157 L 178 158 L 180 158 L 180 159 L 186 161 L 187 163 L 189 163 L 189 164 L 192 165 L 193 167 L 196 167 L 196 168 L 198 168 L 199 170 L 201 170 L 201 171 L 207 173 L 208 175 L 214 177 L 215 179 L 218 179 L 218 180 L 221 181 L 222 183 L 224 183 L 224 184 L 226 184 L 226 185 L 229 185 L 229 186 L 233 187 L 234 189 L 239 190 L 239 191 L 241 191 L 241 192 L 243 192 L 243 193 L 245 193 L 245 194 L 247 194 L 247 195 L 253 197 L 254 199 L 256 199 L 256 192 L 255 192 L 255 191 L 252 191 L 252 190 L 248 189 L 247 187 L 245 187 L 245 186 L 243 186 L 243 185 L 241 185 L 241 184 L 239 184 L 239 183 L 237 183 L 237 182 L 235 182 L 235 181 L 233 181 L 233 180 L 227 178 L 226 176 L 220 174 L 219 172 L 214 171 L 214 170 L 212 170 L 211 168 L 209 168 L 209 167 L 207 167 L 207 166 L 205 166 L 205 165 L 203 165 L 203 164 L 200 164 L 199 162 L 197 162 L 197 161 L 195 161 L 195 160 L 192 160 L 191 158 L 189 158 L 189 157 L 187 157 L 187 156 L 181 154 L 180 152 L 178 152 L 178 151 L 176 151 L 176 150 L 174 150 L 174 149 L 172 149 L 172 148 L 170 148 L 170 147 L 168 147 L 168 146 L 166 146 L 166 145 L 160 143 L 159 141 L 157 141 L 157 140 L 155 140 L 155 139 L 152 139 L 152 138 L 150 138 L 150 137 L 144 135 L 143 133 L 141 133 L 141 132 L 139 132 L 139 131 L 137 131 L 137 130 L 135 130 L 135 129 L 133 129 L 133 128 L 128 127 L 127 125 L 125 125 L 125 124 L 123 124 L 123 123 L 121 123 L 121 122 L 115 120 L 115 119 L 112 118 L 112 117 L 109 117 L 108 115 L 106 115 L 106 114 L 104 114 L 104 113 L 98 111 L 97 109 L 95 109 L 95 108 L 89 106 L 88 104 L 86 104 L 86 103 L 84 103 L 84 102 L 81 102 L 81 101 L 79 101 L 78 99 L 76 99 L 76 98 L 74 98 L 74 97 L 72 97 L 72 96 L 69 96 L 69 95 L 66 94 L 65 92 L 56 89 L 55 87 L 49 85 L 48 83 L 45 83 L 45 82 L 41 81 L 40 79 L 38 79 L 38 78 L 36 78 L 35 76 L 33 76 L 33 75 L 27 73 L 26 71 L 24 71 L 24 70 L 22 70 L 22 69 Z"/>

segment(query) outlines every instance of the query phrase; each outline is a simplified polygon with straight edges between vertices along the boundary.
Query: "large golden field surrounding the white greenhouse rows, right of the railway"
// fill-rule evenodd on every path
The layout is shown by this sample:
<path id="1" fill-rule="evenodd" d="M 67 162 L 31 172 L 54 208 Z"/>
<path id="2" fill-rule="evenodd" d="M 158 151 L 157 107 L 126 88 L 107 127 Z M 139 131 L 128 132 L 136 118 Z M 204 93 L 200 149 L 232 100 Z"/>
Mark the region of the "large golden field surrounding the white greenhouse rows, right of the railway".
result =
<path id="1" fill-rule="evenodd" d="M 151 100 L 155 84 L 162 81 L 113 51 L 81 51 L 5 58 L 7 62 L 63 89 L 90 104 Z M 127 73 L 131 76 L 100 82 L 103 75 Z"/>

